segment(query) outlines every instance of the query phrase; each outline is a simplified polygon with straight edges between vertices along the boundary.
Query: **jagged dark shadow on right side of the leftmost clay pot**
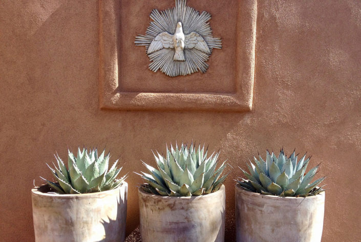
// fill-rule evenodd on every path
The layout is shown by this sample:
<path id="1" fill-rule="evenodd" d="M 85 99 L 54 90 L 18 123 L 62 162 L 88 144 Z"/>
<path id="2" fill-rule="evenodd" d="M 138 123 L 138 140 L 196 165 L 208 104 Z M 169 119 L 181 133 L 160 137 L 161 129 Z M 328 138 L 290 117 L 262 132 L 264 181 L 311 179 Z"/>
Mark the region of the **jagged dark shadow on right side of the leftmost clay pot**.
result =
<path id="1" fill-rule="evenodd" d="M 117 216 L 115 220 L 111 220 L 108 217 L 109 222 L 104 220 L 101 221 L 101 224 L 104 227 L 105 238 L 99 240 L 98 242 L 118 241 L 119 238 L 121 238 L 121 241 L 124 240 L 125 226 L 119 226 L 119 221 L 121 221 L 122 225 L 125 225 L 127 199 L 128 199 L 128 191 L 125 191 L 124 197 L 122 197 L 122 191 L 119 191 Z"/>

